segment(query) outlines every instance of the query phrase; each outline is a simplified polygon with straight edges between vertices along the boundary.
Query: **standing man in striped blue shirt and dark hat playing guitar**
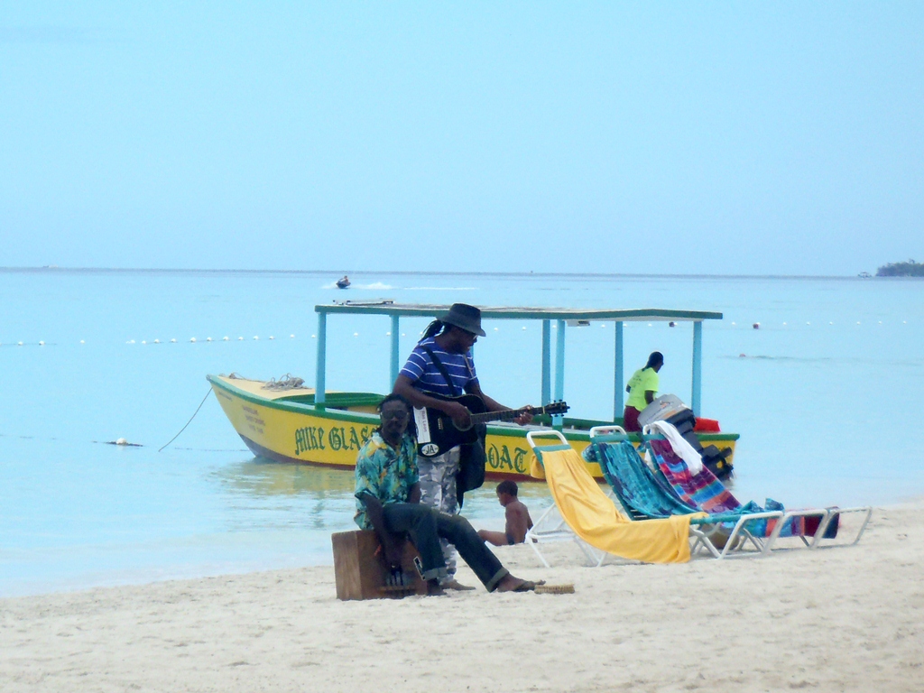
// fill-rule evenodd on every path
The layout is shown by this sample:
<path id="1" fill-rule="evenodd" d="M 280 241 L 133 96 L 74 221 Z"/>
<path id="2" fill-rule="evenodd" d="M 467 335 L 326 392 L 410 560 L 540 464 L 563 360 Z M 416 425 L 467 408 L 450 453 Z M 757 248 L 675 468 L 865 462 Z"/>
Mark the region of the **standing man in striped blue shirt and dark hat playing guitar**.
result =
<path id="1" fill-rule="evenodd" d="M 478 341 L 479 336 L 485 336 L 481 329 L 481 311 L 465 303 L 453 304 L 449 312 L 427 328 L 398 374 L 392 392 L 405 397 L 414 407 L 443 411 L 460 429 L 470 427 L 471 412 L 446 397 L 456 397 L 463 393 L 478 395 L 488 411 L 508 409 L 481 391 L 471 357 L 471 346 Z M 532 414 L 528 410 L 514 420 L 520 425 L 529 423 Z M 456 474 L 459 469 L 459 451 L 456 445 L 438 456 L 418 456 L 420 503 L 450 515 L 458 513 Z M 448 577 L 442 587 L 450 590 L 470 589 L 456 582 L 456 551 L 445 541 L 443 553 Z"/>

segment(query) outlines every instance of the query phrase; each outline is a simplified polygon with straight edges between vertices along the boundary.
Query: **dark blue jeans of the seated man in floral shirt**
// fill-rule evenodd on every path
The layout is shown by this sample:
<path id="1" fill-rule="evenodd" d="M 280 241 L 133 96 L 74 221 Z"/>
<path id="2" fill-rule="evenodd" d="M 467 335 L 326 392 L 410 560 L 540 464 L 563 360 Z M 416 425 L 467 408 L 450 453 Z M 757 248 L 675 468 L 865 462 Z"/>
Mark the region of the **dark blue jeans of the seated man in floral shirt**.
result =
<path id="1" fill-rule="evenodd" d="M 456 546 L 462 560 L 489 592 L 509 572 L 481 541 L 478 532 L 472 529 L 465 517 L 447 515 L 418 503 L 390 503 L 383 507 L 383 515 L 389 531 L 410 536 L 410 541 L 420 552 L 424 579 L 446 574 L 441 538 Z"/>

